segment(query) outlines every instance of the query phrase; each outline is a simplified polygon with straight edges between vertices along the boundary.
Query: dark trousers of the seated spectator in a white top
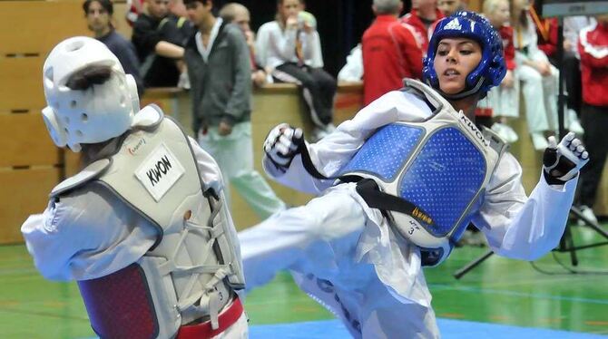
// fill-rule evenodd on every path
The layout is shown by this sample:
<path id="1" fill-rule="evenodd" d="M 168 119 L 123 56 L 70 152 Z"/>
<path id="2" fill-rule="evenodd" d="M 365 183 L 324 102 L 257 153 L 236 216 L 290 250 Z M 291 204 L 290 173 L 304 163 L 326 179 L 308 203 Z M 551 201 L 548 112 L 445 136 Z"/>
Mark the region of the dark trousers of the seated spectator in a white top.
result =
<path id="1" fill-rule="evenodd" d="M 320 128 L 331 122 L 336 94 L 336 79 L 322 68 L 300 67 L 296 63 L 283 63 L 272 73 L 279 82 L 297 83 L 310 111 L 312 122 Z"/>

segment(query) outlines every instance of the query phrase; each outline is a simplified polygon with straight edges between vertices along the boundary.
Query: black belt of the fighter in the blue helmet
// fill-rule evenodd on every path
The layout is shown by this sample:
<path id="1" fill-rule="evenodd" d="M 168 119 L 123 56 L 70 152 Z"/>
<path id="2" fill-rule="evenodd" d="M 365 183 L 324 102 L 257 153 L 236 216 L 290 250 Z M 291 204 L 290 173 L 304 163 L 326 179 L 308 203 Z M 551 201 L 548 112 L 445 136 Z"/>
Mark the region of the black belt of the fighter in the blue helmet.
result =
<path id="1" fill-rule="evenodd" d="M 408 216 L 417 219 L 418 222 L 427 224 L 429 227 L 434 227 L 435 223 L 433 219 L 429 217 L 427 212 L 422 208 L 417 207 L 406 199 L 396 197 L 392 194 L 385 193 L 380 190 L 378 184 L 374 179 L 364 179 L 355 175 L 339 176 L 339 177 L 326 177 L 319 172 L 310 159 L 310 153 L 304 138 L 295 140 L 298 145 L 299 154 L 302 160 L 302 165 L 309 174 L 316 179 L 338 179 L 342 182 L 355 182 L 357 183 L 357 192 L 365 200 L 370 208 L 378 208 L 382 213 L 388 217 L 385 211 L 394 211 L 398 213 L 407 214 Z"/>

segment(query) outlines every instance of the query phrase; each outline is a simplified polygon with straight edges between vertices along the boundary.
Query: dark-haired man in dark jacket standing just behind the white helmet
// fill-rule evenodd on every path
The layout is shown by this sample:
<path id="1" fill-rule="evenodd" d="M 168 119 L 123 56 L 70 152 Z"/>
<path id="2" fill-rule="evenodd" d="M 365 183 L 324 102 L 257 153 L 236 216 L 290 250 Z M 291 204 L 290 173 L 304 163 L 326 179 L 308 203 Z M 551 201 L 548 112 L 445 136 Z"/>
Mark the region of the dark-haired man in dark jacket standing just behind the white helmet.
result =
<path id="1" fill-rule="evenodd" d="M 135 47 L 116 33 L 112 24 L 114 6 L 111 0 L 86 0 L 83 3 L 84 17 L 95 39 L 105 44 L 116 55 L 123 65 L 124 73 L 131 74 L 137 82 L 137 92 L 143 94 L 143 82 L 140 76 L 140 62 L 135 53 Z"/>

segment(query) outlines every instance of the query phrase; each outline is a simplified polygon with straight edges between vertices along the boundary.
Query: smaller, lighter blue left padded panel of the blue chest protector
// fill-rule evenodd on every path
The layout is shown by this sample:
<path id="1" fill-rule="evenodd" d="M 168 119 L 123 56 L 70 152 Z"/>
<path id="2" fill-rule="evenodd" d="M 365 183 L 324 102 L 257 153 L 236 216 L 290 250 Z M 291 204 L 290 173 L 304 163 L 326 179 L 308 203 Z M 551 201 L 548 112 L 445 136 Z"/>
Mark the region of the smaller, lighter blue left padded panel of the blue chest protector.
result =
<path id="1" fill-rule="evenodd" d="M 423 129 L 392 123 L 378 130 L 341 170 L 374 173 L 385 182 L 393 181 L 416 147 Z"/>

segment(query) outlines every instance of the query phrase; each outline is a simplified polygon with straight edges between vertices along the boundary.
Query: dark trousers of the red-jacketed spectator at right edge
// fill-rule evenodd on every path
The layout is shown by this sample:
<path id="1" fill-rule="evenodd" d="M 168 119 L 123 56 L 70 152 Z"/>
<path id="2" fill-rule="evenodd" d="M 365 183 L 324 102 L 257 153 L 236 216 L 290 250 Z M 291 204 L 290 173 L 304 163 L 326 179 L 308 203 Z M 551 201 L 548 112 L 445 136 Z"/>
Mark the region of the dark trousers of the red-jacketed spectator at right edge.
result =
<path id="1" fill-rule="evenodd" d="M 584 146 L 589 152 L 589 162 L 581 169 L 579 180 L 579 204 L 593 207 L 597 189 L 602 180 L 603 165 L 608 154 L 608 106 L 592 106 L 583 103 L 581 124 Z"/>

